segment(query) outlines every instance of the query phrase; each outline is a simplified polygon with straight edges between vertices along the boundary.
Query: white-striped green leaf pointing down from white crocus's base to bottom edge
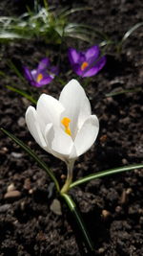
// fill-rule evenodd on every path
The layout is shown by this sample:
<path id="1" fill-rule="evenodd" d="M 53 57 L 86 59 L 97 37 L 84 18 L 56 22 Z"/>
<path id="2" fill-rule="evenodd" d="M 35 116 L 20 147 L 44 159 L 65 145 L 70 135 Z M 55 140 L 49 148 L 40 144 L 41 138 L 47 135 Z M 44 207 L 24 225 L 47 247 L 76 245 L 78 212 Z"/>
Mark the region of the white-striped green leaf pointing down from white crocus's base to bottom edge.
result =
<path id="1" fill-rule="evenodd" d="M 87 228 L 85 226 L 84 221 L 82 220 L 82 217 L 80 215 L 80 212 L 78 211 L 76 204 L 72 200 L 71 196 L 68 194 L 61 194 L 61 197 L 64 198 L 67 206 L 69 207 L 70 211 L 72 212 L 72 215 L 74 217 L 74 220 L 77 222 L 78 227 L 80 228 L 80 231 L 82 232 L 85 244 L 87 245 L 87 248 L 90 252 L 90 255 L 95 255 L 94 254 L 94 249 L 92 245 L 92 240 L 91 237 L 87 231 Z"/>

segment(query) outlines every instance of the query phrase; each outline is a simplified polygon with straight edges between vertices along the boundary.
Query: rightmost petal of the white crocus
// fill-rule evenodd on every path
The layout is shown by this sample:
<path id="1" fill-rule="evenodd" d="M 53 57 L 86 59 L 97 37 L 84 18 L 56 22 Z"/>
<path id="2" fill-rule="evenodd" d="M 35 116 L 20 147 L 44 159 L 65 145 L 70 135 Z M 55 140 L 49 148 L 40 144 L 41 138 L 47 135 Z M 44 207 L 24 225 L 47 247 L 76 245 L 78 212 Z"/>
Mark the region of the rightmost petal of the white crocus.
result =
<path id="1" fill-rule="evenodd" d="M 94 143 L 99 130 L 99 122 L 95 115 L 91 115 L 78 131 L 74 140 L 77 155 L 88 151 Z"/>

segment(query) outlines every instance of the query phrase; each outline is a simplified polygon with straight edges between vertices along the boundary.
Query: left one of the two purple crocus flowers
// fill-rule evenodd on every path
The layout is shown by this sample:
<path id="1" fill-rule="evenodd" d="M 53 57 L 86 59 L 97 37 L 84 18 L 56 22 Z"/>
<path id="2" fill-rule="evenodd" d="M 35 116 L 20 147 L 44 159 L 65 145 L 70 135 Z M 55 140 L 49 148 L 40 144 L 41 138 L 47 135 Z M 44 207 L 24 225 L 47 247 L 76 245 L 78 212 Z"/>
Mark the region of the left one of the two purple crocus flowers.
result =
<path id="1" fill-rule="evenodd" d="M 54 79 L 58 74 L 58 68 L 50 66 L 49 58 L 42 58 L 36 69 L 30 70 L 24 66 L 24 74 L 31 85 L 41 87 L 49 84 Z"/>

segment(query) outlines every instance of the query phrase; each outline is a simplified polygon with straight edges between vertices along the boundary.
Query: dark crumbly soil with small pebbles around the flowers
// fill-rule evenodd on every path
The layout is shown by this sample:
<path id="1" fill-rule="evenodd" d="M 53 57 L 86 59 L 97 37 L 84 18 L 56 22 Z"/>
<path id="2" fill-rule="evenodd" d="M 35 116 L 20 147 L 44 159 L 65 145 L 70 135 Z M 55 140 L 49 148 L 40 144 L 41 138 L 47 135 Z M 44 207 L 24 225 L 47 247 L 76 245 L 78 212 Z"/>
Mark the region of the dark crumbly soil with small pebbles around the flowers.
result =
<path id="1" fill-rule="evenodd" d="M 67 3 L 61 1 L 62 6 Z M 78 1 L 78 5 L 71 1 L 71 5 L 92 7 L 92 11 L 76 13 L 72 19 L 86 21 L 116 40 L 134 24 L 143 21 L 142 0 L 85 0 Z M 16 12 L 22 12 L 20 4 L 13 8 L 12 1 L 1 1 L 1 15 Z M 81 47 L 89 47 L 89 44 L 80 44 Z M 68 45 L 71 45 L 70 41 Z M 10 70 L 8 59 L 12 59 L 18 68 L 22 64 L 33 68 L 46 55 L 56 60 L 59 47 L 47 45 L 42 40 L 32 40 L 1 44 L 0 48 L 0 69 L 6 74 L 0 81 L 1 127 L 7 128 L 42 157 L 62 184 L 61 175 L 66 175 L 64 163 L 42 151 L 26 127 L 25 112 L 31 103 L 6 88 L 6 85 L 15 84 L 19 88 L 30 88 Z M 92 112 L 100 120 L 100 132 L 92 149 L 76 161 L 74 179 L 142 161 L 142 91 L 105 96 L 112 90 L 142 86 L 142 28 L 129 37 L 119 58 L 113 55 L 112 48 L 111 53 L 105 68 L 85 88 L 92 103 Z M 65 83 L 76 78 L 73 73 L 67 75 L 69 70 L 70 64 L 63 50 L 61 78 Z M 58 98 L 61 89 L 62 85 L 55 80 L 38 89 L 38 94 L 45 91 Z M 80 236 L 75 236 L 77 227 L 66 205 L 62 207 L 62 215 L 51 210 L 57 196 L 50 177 L 2 132 L 0 160 L 0 256 L 84 255 L 86 250 L 79 246 Z M 135 170 L 97 179 L 71 190 L 72 198 L 87 223 L 96 255 L 143 255 L 142 177 L 142 171 Z M 14 191 L 11 198 L 7 198 L 8 190 Z"/>

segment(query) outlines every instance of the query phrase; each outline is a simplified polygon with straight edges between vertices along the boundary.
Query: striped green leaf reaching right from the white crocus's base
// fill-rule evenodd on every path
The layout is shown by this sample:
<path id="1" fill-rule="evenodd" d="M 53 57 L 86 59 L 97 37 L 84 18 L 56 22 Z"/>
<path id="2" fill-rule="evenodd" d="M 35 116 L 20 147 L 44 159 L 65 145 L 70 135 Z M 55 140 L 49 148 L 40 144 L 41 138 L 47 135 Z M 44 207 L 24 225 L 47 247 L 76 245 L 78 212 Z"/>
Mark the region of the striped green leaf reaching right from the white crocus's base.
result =
<path id="1" fill-rule="evenodd" d="M 92 179 L 96 179 L 96 178 L 107 176 L 107 175 L 119 174 L 122 172 L 132 171 L 134 169 L 140 169 L 140 168 L 143 168 L 143 164 L 118 167 L 118 168 L 102 171 L 102 172 L 99 172 L 99 173 L 96 173 L 93 175 L 85 176 L 83 178 L 80 178 L 80 179 L 72 182 L 72 184 L 70 185 L 70 188 L 72 189 L 73 187 L 83 184 L 85 182 L 91 181 Z"/>

